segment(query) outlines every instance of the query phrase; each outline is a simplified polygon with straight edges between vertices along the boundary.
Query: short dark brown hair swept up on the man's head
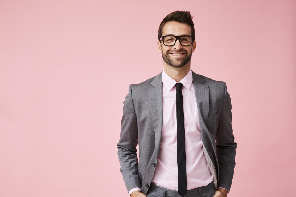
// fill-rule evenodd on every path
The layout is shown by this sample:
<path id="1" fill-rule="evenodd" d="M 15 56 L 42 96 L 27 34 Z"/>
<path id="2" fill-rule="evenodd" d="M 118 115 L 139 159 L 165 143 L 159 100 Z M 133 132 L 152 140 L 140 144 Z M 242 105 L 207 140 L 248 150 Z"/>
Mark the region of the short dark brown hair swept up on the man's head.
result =
<path id="1" fill-rule="evenodd" d="M 160 40 L 162 36 L 162 28 L 163 26 L 169 22 L 169 21 L 177 21 L 180 23 L 186 23 L 191 27 L 191 36 L 195 37 L 195 31 L 194 31 L 194 24 L 192 21 L 193 16 L 190 15 L 189 11 L 175 11 L 170 14 L 168 14 L 160 23 L 158 28 L 158 40 Z"/>

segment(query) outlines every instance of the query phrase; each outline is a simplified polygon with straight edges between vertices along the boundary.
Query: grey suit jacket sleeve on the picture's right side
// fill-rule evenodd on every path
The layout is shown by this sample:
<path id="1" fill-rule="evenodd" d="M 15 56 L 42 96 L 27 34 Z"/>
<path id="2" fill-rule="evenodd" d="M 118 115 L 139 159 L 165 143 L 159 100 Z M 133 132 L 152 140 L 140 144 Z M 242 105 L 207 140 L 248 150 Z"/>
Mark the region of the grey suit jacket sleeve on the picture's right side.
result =
<path id="1" fill-rule="evenodd" d="M 216 134 L 216 148 L 219 163 L 219 178 L 217 187 L 230 191 L 236 154 L 236 142 L 232 134 L 231 98 L 224 83 L 224 103 L 219 118 Z"/>

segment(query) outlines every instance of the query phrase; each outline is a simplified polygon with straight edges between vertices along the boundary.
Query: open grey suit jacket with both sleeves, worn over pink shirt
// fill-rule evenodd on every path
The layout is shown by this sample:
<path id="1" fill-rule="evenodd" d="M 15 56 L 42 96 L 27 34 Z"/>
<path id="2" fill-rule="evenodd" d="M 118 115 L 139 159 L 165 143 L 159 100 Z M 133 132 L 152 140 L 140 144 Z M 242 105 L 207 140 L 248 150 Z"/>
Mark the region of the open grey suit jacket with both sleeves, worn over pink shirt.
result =
<path id="1" fill-rule="evenodd" d="M 192 74 L 202 145 L 214 187 L 230 190 L 236 154 L 231 98 L 225 82 L 193 71 Z M 117 144 L 120 171 L 128 191 L 140 187 L 146 195 L 157 165 L 162 131 L 162 72 L 139 84 L 131 84 L 123 104 Z"/>

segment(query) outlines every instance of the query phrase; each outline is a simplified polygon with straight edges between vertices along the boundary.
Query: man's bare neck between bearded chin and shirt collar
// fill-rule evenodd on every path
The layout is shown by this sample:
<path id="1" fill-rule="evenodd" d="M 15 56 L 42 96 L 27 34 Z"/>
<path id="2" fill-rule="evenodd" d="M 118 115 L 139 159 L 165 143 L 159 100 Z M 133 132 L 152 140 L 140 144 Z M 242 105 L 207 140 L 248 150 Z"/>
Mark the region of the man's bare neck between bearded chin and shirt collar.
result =
<path id="1" fill-rule="evenodd" d="M 175 68 L 163 61 L 163 70 L 176 82 L 181 81 L 190 70 L 190 61 L 181 68 Z"/>

